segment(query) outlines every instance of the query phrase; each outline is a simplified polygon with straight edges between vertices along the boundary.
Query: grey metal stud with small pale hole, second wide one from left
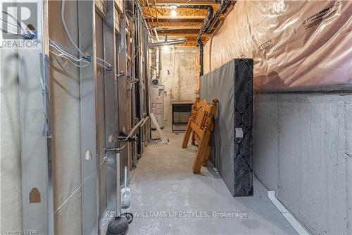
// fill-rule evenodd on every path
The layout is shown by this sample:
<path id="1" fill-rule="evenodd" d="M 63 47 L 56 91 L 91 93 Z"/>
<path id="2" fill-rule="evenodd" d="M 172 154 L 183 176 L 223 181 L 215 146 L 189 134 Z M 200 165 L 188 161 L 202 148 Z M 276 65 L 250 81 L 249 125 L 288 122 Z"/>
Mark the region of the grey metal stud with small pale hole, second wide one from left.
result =
<path id="1" fill-rule="evenodd" d="M 77 4 L 79 47 L 91 57 L 89 66 L 80 68 L 82 234 L 93 235 L 98 234 L 99 211 L 95 112 L 95 4 L 94 1 L 77 1 Z"/>

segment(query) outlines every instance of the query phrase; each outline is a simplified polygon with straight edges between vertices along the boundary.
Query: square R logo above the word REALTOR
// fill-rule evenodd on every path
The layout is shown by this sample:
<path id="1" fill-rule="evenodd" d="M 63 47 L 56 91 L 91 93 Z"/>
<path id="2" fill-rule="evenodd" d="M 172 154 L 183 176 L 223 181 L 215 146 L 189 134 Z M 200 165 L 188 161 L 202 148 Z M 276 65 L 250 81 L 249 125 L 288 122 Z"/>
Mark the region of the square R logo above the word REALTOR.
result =
<path id="1" fill-rule="evenodd" d="M 3 40 L 36 39 L 37 21 L 37 3 L 2 3 L 1 31 L 3 32 Z"/>

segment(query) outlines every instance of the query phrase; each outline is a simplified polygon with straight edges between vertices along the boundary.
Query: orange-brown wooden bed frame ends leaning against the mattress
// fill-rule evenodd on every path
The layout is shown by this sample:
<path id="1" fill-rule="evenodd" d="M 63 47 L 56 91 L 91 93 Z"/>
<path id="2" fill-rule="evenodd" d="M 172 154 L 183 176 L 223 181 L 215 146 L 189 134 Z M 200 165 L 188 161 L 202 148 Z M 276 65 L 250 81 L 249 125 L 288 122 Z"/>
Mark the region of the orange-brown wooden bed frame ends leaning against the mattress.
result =
<path id="1" fill-rule="evenodd" d="M 186 133 L 184 134 L 182 147 L 187 147 L 189 136 L 192 133 L 192 145 L 198 143 L 198 151 L 193 162 L 193 172 L 200 173 L 201 166 L 206 166 L 210 154 L 210 134 L 214 129 L 213 117 L 218 109 L 218 99 L 213 99 L 211 104 L 206 100 L 200 101 L 199 97 L 193 104 L 191 117 L 188 120 Z"/>

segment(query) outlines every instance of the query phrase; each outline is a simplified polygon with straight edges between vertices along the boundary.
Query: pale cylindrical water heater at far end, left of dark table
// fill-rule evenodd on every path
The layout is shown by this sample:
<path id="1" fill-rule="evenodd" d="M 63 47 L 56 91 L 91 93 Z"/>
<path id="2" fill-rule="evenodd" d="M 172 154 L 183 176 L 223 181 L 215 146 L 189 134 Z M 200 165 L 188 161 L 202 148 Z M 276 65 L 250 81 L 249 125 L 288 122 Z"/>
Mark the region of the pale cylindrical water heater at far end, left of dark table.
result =
<path id="1" fill-rule="evenodd" d="M 165 102 L 165 86 L 151 85 L 151 113 L 156 117 L 160 128 L 164 127 L 164 102 Z M 156 129 L 154 124 L 151 125 L 152 129 Z"/>

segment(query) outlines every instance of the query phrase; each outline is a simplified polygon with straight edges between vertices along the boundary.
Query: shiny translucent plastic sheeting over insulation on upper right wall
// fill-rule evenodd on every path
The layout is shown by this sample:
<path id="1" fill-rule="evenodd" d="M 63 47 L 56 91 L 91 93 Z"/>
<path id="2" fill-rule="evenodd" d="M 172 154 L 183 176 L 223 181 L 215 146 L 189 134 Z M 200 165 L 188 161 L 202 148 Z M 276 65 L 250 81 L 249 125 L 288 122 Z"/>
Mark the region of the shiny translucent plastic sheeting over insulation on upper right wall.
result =
<path id="1" fill-rule="evenodd" d="M 238 1 L 204 71 L 254 59 L 255 90 L 352 90 L 352 1 Z"/>

